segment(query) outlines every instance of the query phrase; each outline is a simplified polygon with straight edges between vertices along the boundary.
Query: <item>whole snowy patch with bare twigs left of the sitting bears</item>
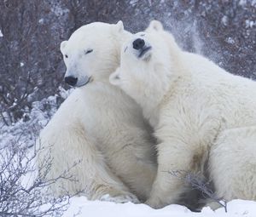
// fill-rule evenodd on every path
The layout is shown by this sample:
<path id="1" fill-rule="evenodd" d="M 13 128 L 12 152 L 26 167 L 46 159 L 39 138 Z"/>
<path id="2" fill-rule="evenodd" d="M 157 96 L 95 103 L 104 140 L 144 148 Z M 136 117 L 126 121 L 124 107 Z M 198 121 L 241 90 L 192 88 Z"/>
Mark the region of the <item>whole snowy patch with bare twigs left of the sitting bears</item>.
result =
<path id="1" fill-rule="evenodd" d="M 61 97 L 68 95 L 60 89 Z M 36 162 L 40 147 L 35 140 L 41 128 L 57 108 L 58 95 L 32 103 L 32 110 L 10 126 L 0 128 L 0 216 L 61 216 L 67 209 L 70 195 L 52 197 L 50 185 L 59 179 L 72 179 L 68 168 L 52 180 L 46 179 L 52 158 Z M 26 118 L 26 121 L 24 121 Z M 46 169 L 45 169 L 46 168 Z M 42 172 L 44 171 L 44 172 Z M 38 173 L 41 174 L 39 179 Z"/>

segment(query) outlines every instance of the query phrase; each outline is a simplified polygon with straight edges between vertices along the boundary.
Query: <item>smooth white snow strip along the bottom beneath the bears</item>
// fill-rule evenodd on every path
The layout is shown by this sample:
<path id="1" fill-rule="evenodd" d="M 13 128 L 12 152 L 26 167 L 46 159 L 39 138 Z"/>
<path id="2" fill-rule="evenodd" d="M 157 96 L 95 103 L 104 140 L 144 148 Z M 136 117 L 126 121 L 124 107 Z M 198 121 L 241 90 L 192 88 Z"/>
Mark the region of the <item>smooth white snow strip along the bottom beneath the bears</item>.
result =
<path id="1" fill-rule="evenodd" d="M 255 217 L 256 202 L 231 201 L 228 203 L 228 213 L 224 212 L 224 208 L 212 211 L 209 207 L 203 208 L 201 213 L 194 213 L 188 208 L 176 204 L 166 206 L 165 208 L 153 209 L 145 204 L 89 201 L 86 197 L 73 197 L 70 207 L 63 217 L 70 217 L 73 214 L 77 214 L 76 216 L 78 217 Z"/>

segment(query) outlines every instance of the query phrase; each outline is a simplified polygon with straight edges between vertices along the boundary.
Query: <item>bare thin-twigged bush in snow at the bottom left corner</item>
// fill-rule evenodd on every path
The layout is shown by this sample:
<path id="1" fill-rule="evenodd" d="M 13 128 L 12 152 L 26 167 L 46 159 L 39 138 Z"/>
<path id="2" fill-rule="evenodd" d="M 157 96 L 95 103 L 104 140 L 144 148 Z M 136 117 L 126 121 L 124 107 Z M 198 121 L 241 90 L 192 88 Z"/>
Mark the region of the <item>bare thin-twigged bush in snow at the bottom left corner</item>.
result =
<path id="1" fill-rule="evenodd" d="M 49 191 L 49 186 L 65 179 L 65 174 L 52 180 L 44 179 L 51 159 L 45 159 L 38 168 L 38 151 L 19 143 L 0 148 L 0 216 L 61 216 L 67 209 L 71 196 L 55 198 Z M 45 172 L 40 179 L 38 170 L 43 168 Z"/>

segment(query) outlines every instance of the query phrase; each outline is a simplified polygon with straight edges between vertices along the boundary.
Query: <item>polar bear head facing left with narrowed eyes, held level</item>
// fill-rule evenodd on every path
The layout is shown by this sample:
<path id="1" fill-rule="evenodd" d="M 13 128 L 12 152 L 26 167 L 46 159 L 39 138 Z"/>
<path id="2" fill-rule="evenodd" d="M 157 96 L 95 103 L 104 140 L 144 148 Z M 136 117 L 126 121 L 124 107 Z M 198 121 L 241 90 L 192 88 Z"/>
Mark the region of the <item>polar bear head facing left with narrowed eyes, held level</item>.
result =
<path id="1" fill-rule="evenodd" d="M 74 31 L 61 43 L 61 53 L 67 71 L 65 82 L 80 87 L 92 81 L 107 80 L 119 66 L 119 50 L 130 36 L 122 21 L 116 25 L 94 22 Z"/>

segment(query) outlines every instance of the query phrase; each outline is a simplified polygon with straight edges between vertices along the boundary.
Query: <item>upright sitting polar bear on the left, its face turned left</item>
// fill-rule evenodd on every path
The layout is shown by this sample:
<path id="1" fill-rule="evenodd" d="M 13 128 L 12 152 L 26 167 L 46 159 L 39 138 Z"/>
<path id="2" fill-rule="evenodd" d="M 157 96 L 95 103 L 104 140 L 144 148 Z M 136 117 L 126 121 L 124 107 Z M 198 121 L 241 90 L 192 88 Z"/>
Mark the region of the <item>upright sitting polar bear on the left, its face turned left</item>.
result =
<path id="1" fill-rule="evenodd" d="M 53 158 L 46 178 L 71 168 L 68 175 L 76 180 L 55 183 L 56 196 L 84 190 L 90 199 L 137 202 L 151 191 L 157 168 L 149 125 L 137 103 L 108 81 L 119 66 L 121 44 L 130 35 L 121 21 L 96 22 L 61 43 L 65 80 L 79 88 L 62 103 L 38 140 L 44 148 L 39 165 L 49 152 Z"/>

